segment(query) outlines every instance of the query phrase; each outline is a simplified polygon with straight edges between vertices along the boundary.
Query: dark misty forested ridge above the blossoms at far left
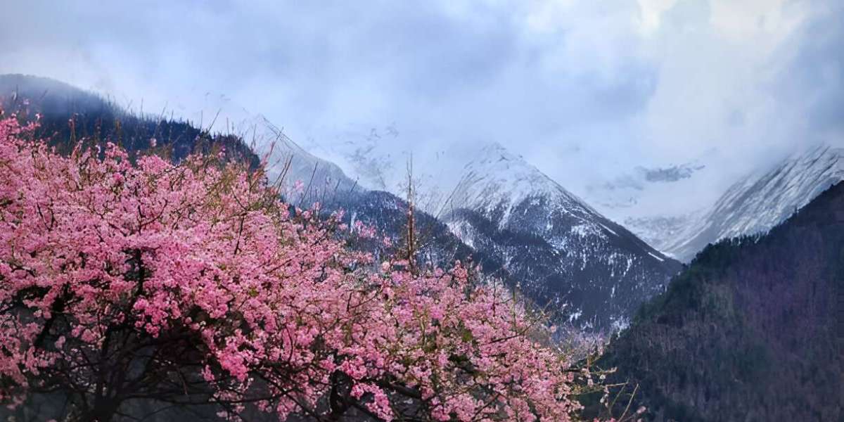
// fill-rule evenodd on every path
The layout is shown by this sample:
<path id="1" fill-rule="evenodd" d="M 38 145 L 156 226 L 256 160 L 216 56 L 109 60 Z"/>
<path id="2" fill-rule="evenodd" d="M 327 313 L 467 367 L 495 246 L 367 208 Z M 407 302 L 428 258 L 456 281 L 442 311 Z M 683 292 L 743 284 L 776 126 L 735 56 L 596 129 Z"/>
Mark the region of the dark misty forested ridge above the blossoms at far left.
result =
<path id="1" fill-rule="evenodd" d="M 76 141 L 84 139 L 116 143 L 134 154 L 149 149 L 151 139 L 155 139 L 156 148 L 169 154 L 171 160 L 223 147 L 228 160 L 240 160 L 252 168 L 259 165 L 257 155 L 235 135 L 208 133 L 170 116 L 135 115 L 100 95 L 50 78 L 0 75 L 0 108 L 30 121 L 40 114 L 36 134 L 61 152 L 68 152 Z"/>

